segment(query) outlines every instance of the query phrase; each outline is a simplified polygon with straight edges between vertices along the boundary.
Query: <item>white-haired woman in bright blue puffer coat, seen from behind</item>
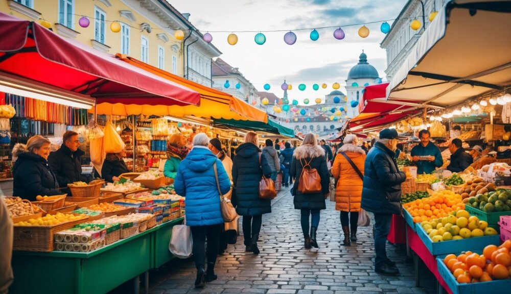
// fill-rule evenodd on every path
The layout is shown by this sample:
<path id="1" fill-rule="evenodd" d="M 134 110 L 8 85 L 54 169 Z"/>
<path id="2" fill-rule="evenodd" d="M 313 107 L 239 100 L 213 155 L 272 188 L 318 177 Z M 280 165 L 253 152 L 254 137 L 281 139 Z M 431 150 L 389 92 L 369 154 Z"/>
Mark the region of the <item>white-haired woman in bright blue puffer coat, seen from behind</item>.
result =
<path id="1" fill-rule="evenodd" d="M 193 237 L 193 256 L 197 268 L 195 287 L 202 288 L 205 282 L 217 279 L 215 262 L 218 253 L 218 238 L 224 224 L 220 211 L 220 194 L 230 190 L 230 180 L 225 168 L 208 148 L 210 138 L 198 133 L 193 138 L 193 148 L 180 163 L 174 179 L 178 195 L 186 197 L 185 217 Z M 216 166 L 216 170 L 215 170 Z M 215 172 L 218 175 L 218 191 Z M 207 238 L 207 272 L 204 271 L 204 243 Z"/>

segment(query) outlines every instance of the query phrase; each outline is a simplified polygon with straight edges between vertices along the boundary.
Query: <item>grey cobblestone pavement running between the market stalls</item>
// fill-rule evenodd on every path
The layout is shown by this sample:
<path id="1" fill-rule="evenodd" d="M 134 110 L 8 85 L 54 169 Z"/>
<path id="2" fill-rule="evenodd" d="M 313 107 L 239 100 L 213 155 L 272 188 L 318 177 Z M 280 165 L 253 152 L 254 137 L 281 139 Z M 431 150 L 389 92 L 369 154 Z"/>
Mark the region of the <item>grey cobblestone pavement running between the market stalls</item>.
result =
<path id="1" fill-rule="evenodd" d="M 218 256 L 218 280 L 194 288 L 193 259 L 169 262 L 151 278 L 150 293 L 428 293 L 416 288 L 412 264 L 405 263 L 404 249 L 387 244 L 389 258 L 397 262 L 400 277 L 385 277 L 374 272 L 372 223 L 358 229 L 358 241 L 351 247 L 341 244 L 339 212 L 327 200 L 321 211 L 317 241 L 319 249 L 304 249 L 299 210 L 293 207 L 289 188 L 272 201 L 272 213 L 263 215 L 259 248 L 261 253 L 246 253 L 243 236 L 227 253 Z M 240 222 L 241 226 L 241 222 Z"/>

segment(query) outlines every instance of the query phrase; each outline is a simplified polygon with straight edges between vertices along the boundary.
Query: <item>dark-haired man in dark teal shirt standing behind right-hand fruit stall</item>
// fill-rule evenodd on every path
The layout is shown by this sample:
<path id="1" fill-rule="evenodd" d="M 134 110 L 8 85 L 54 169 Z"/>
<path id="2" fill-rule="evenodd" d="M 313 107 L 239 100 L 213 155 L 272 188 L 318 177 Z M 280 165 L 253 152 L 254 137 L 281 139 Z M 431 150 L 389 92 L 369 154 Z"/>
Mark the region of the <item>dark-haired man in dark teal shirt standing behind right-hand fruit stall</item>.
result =
<path id="1" fill-rule="evenodd" d="M 430 134 L 428 130 L 420 131 L 419 138 L 421 143 L 412 148 L 410 155 L 413 158 L 413 162 L 417 165 L 417 175 L 431 174 L 435 167 L 440 167 L 444 164 L 444 160 L 438 147 L 429 141 Z"/>

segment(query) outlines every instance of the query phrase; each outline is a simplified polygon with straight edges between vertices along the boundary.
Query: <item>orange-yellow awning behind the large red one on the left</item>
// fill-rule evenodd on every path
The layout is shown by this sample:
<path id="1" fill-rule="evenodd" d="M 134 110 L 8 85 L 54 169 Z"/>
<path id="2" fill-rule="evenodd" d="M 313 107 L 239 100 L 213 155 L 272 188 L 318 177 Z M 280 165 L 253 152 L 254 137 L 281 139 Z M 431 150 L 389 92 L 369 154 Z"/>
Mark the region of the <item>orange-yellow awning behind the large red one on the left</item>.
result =
<path id="1" fill-rule="evenodd" d="M 153 74 L 168 79 L 170 81 L 179 83 L 185 87 L 191 88 L 200 93 L 200 106 L 161 106 L 161 105 L 124 105 L 124 104 L 110 104 L 101 103 L 97 105 L 98 114 L 107 115 L 172 115 L 183 117 L 186 115 L 193 115 L 203 118 L 224 118 L 224 119 L 237 119 L 237 120 L 253 120 L 268 122 L 268 115 L 266 112 L 255 108 L 243 101 L 233 97 L 230 94 L 222 91 L 206 87 L 204 85 L 189 81 L 187 79 L 178 77 L 165 70 L 159 69 L 140 60 L 136 60 L 126 55 L 117 54 L 117 58 L 128 62 L 132 65 L 143 68 Z M 92 108 L 89 112 L 94 113 L 95 109 Z"/>

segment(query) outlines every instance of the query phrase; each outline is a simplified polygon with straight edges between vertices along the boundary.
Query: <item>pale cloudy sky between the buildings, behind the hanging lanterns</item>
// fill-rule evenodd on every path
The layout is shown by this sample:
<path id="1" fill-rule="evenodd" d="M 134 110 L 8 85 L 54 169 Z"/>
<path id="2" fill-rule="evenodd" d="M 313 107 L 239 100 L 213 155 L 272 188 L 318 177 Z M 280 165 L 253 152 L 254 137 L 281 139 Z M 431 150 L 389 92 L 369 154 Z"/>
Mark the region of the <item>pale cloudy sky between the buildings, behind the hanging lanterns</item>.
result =
<path id="1" fill-rule="evenodd" d="M 222 52 L 220 58 L 238 67 L 259 91 L 263 85 L 271 85 L 270 92 L 282 97 L 280 85 L 286 79 L 293 85 L 288 92 L 291 99 L 303 101 L 323 97 L 332 91 L 332 84 L 344 85 L 347 73 L 357 64 L 362 50 L 368 62 L 375 66 L 384 78 L 386 53 L 380 48 L 384 34 L 381 22 L 366 24 L 370 30 L 367 38 L 358 36 L 364 22 L 394 19 L 406 0 L 168 0 L 179 12 L 190 13 L 190 21 L 202 33 L 229 31 L 238 35 L 238 43 L 229 45 L 229 33 L 214 33 L 213 44 Z M 392 21 L 389 21 L 392 24 Z M 341 26 L 343 40 L 333 37 L 335 28 L 318 29 L 319 40 L 312 41 L 311 30 L 294 31 L 297 41 L 293 45 L 284 42 L 286 32 L 263 32 L 266 43 L 254 42 L 254 33 L 239 31 L 295 30 Z M 299 91 L 298 85 L 307 85 Z M 327 83 L 327 89 L 312 89 L 313 84 Z"/>

